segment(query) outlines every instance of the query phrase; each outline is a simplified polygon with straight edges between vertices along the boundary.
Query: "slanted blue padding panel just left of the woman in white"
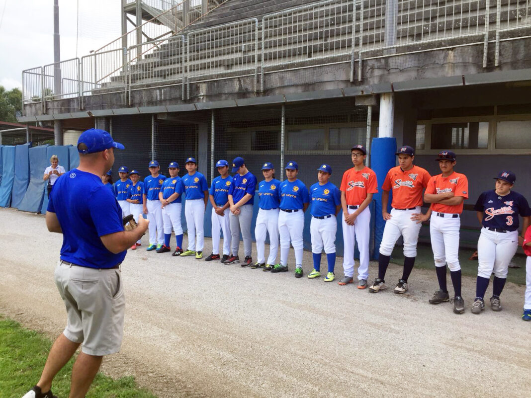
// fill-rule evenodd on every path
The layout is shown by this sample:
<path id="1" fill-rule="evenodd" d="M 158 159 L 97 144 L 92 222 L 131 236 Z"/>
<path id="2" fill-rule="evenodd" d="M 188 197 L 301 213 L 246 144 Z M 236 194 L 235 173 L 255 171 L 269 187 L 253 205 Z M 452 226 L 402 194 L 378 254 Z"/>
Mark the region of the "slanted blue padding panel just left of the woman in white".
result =
<path id="1" fill-rule="evenodd" d="M 44 170 L 49 165 L 46 158 L 48 145 L 36 146 L 29 149 L 30 181 L 28 189 L 19 205 L 19 210 L 40 212 L 46 187 L 46 181 L 42 179 Z"/>

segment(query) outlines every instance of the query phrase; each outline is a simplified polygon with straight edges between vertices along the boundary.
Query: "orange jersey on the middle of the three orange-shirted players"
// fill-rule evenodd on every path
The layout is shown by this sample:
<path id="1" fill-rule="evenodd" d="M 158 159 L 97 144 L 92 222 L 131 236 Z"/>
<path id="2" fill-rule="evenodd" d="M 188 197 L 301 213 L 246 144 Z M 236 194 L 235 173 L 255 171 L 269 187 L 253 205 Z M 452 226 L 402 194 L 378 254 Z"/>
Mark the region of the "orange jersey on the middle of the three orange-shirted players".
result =
<path id="1" fill-rule="evenodd" d="M 400 166 L 397 166 L 387 172 L 382 189 L 393 190 L 391 206 L 395 209 L 422 206 L 424 202 L 422 190 L 428 186 L 430 177 L 430 173 L 422 167 L 413 166 L 412 169 L 403 171 Z"/>

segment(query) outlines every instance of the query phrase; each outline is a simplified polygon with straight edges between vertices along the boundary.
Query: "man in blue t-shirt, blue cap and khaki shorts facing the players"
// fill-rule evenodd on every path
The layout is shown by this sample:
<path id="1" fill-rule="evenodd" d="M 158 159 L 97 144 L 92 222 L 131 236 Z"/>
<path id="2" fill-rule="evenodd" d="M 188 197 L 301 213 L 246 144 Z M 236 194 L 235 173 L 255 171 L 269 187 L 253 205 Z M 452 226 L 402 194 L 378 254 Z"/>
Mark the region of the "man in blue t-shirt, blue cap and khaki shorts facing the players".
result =
<path id="1" fill-rule="evenodd" d="M 50 232 L 63 234 L 54 278 L 66 305 L 66 328 L 54 342 L 41 378 L 26 396 L 51 397 L 52 381 L 82 343 L 72 373 L 71 395 L 85 396 L 102 357 L 122 343 L 124 289 L 120 271 L 127 248 L 148 228 L 124 231 L 122 210 L 101 177 L 124 149 L 109 133 L 90 129 L 78 140 L 79 167 L 57 179 L 46 213 Z"/>

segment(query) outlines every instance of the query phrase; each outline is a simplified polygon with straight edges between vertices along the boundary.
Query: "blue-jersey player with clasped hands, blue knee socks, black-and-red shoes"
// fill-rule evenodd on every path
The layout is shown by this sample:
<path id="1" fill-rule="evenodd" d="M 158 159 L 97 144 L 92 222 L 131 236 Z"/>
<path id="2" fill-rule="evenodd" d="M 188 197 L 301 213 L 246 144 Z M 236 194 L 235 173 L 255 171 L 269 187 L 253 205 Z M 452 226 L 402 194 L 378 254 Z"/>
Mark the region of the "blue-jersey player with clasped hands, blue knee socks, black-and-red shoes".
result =
<path id="1" fill-rule="evenodd" d="M 159 192 L 160 206 L 162 207 L 162 222 L 164 223 L 164 245 L 157 249 L 157 253 L 170 252 L 169 240 L 172 237 L 172 228 L 175 232 L 177 247 L 174 256 L 183 253 L 183 227 L 181 226 L 181 195 L 184 192 L 183 181 L 179 174 L 179 164 L 170 162 L 168 166 L 169 177 L 164 180 Z"/>

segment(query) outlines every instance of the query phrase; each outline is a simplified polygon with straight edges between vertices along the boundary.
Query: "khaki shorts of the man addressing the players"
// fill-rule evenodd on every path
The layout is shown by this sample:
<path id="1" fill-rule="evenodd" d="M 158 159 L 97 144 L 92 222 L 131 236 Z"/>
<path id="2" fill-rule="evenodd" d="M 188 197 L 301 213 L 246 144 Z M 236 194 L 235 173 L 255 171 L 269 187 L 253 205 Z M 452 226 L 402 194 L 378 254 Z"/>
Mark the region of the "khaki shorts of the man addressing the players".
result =
<path id="1" fill-rule="evenodd" d="M 124 329 L 125 296 L 119 269 L 57 264 L 55 284 L 66 305 L 63 334 L 93 356 L 118 352 Z"/>

